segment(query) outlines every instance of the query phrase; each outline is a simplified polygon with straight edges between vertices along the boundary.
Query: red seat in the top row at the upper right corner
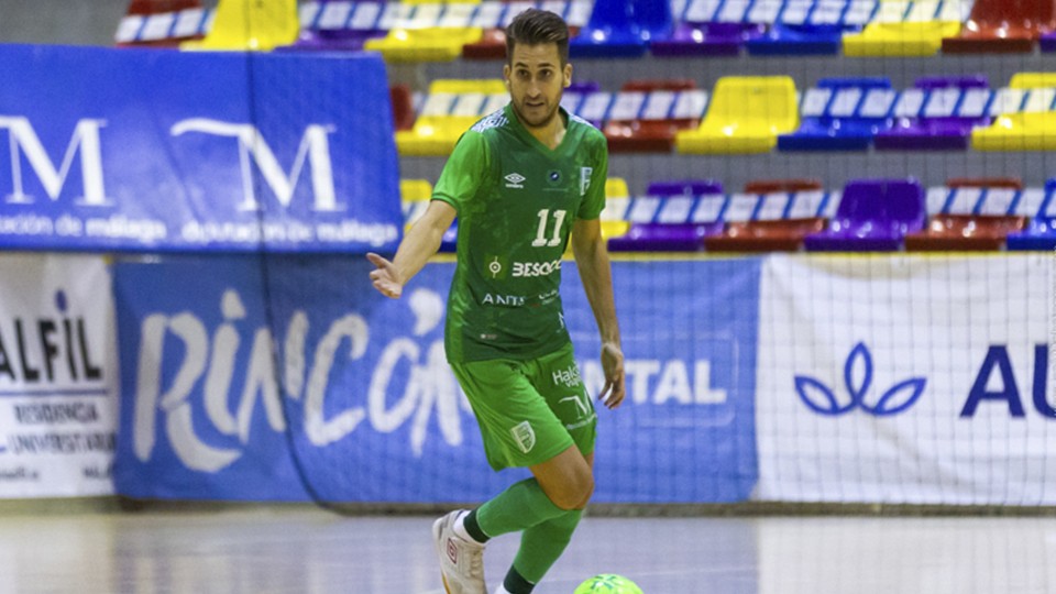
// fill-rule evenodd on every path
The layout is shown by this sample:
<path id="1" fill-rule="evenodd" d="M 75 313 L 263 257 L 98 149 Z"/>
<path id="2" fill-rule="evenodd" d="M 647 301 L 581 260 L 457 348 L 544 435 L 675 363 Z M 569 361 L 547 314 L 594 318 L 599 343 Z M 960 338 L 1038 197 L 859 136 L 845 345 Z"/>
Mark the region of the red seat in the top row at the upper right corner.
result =
<path id="1" fill-rule="evenodd" d="M 943 40 L 943 53 L 1028 54 L 1054 29 L 1053 0 L 975 0 L 960 34 Z"/>

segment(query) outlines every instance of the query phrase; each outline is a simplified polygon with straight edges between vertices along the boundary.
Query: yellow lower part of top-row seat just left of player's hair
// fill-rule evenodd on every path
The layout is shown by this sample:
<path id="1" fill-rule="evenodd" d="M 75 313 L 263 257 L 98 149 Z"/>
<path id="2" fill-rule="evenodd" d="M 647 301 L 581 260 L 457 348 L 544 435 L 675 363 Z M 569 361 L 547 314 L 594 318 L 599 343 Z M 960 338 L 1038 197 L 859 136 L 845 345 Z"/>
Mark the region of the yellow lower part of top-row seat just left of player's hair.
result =
<path id="1" fill-rule="evenodd" d="M 479 26 L 428 26 L 393 29 L 382 38 L 370 40 L 364 48 L 381 52 L 387 62 L 451 62 L 462 46 L 484 36 Z"/>

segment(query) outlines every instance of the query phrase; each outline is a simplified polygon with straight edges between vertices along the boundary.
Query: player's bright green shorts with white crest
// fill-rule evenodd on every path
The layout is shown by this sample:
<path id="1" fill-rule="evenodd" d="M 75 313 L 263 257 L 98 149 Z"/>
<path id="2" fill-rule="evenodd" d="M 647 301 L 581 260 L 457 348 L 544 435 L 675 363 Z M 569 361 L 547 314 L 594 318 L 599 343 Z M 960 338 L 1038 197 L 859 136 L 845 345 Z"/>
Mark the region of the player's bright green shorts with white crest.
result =
<path id="1" fill-rule="evenodd" d="M 538 359 L 452 363 L 496 471 L 532 466 L 575 446 L 594 452 L 597 415 L 569 344 Z"/>

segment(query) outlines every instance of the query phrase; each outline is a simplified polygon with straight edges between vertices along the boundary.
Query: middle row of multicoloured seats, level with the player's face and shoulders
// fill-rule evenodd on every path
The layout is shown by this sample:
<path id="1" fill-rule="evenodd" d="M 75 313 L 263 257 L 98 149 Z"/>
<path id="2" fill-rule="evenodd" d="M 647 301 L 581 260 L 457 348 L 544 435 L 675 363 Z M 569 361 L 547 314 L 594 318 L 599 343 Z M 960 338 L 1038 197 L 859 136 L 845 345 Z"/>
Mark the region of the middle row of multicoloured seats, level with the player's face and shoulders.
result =
<path id="1" fill-rule="evenodd" d="M 435 80 L 417 101 L 393 89 L 402 155 L 443 156 L 476 119 L 508 99 L 502 80 Z M 417 108 L 416 108 L 417 103 Z M 619 91 L 578 82 L 562 105 L 597 125 L 612 152 L 738 154 L 779 151 L 1056 150 L 1056 73 L 927 76 L 897 90 L 888 78 L 825 78 L 800 94 L 791 78 L 630 80 Z"/>

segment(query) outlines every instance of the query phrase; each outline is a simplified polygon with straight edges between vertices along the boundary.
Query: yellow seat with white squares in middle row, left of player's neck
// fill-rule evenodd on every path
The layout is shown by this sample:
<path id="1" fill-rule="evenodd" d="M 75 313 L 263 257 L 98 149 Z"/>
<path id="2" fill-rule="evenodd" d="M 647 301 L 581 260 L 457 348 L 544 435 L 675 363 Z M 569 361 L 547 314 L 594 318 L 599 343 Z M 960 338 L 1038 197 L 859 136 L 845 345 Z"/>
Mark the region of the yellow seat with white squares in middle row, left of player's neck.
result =
<path id="1" fill-rule="evenodd" d="M 433 80 L 414 128 L 396 132 L 396 148 L 400 155 L 449 155 L 463 132 L 508 99 L 502 79 Z"/>

